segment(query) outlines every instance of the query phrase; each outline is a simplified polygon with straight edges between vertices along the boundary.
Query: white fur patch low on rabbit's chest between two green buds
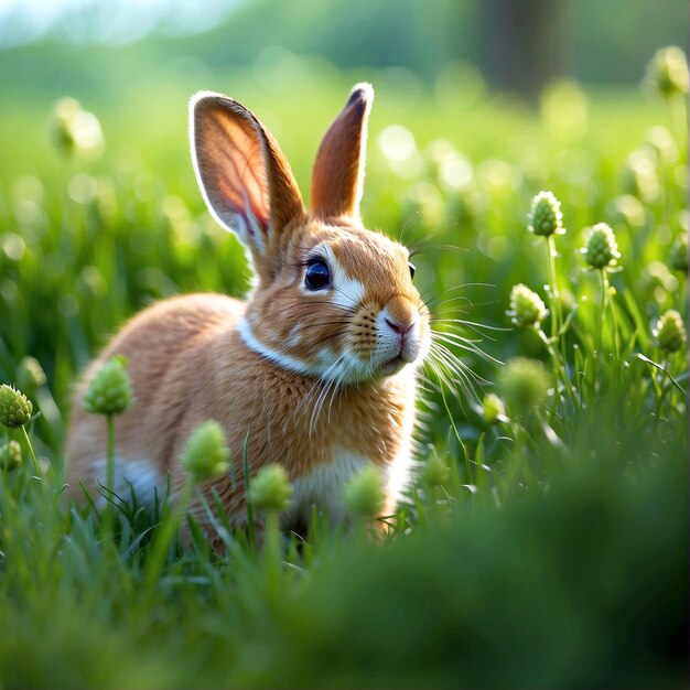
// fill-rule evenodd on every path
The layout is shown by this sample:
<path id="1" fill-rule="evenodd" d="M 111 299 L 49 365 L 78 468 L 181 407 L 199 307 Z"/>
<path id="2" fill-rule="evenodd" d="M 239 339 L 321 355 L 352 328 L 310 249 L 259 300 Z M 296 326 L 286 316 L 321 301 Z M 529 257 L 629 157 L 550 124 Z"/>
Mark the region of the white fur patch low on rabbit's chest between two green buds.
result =
<path id="1" fill-rule="evenodd" d="M 298 519 L 309 524 L 314 507 L 316 513 L 328 517 L 331 525 L 342 522 L 345 518 L 345 486 L 370 464 L 367 457 L 336 448 L 332 462 L 315 465 L 292 482 L 292 505 L 282 516 L 283 525 L 290 527 Z"/>

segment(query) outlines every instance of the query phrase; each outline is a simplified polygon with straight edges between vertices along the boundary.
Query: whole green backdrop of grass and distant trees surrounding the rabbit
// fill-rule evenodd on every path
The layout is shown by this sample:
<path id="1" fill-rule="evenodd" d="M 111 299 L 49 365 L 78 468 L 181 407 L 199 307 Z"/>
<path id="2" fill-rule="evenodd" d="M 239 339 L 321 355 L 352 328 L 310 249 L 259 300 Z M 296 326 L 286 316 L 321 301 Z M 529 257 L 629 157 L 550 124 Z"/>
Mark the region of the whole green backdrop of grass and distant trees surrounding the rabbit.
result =
<path id="1" fill-rule="evenodd" d="M 489 355 L 446 342 L 486 380 L 474 392 L 428 370 L 419 460 L 438 476 L 385 548 L 315 538 L 278 574 L 200 549 L 145 599 L 136 533 L 109 550 L 90 517 L 2 484 L 0 684 L 687 684 L 686 349 L 654 333 L 686 313 L 686 97 L 645 79 L 686 36 L 687 6 L 642 0 L 0 0 L 0 382 L 41 411 L 42 461 L 60 466 L 75 377 L 127 317 L 247 290 L 190 163 L 200 89 L 263 120 L 308 198 L 321 136 L 371 82 L 364 220 L 419 246 L 436 327 L 481 324 Z M 559 347 L 576 403 L 506 315 L 519 282 L 551 305 L 527 230 L 543 188 L 568 230 Z M 623 268 L 603 320 L 580 252 L 600 222 Z M 510 398 L 517 356 L 543 363 L 527 401 Z"/>

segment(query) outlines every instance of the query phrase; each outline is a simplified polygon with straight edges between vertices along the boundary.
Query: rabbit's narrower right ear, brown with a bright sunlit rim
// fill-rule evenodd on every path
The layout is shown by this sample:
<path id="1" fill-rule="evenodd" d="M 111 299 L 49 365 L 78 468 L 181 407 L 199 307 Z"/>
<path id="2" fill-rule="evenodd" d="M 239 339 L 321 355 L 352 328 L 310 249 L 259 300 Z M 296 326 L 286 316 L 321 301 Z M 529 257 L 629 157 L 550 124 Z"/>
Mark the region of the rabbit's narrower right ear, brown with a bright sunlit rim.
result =
<path id="1" fill-rule="evenodd" d="M 312 208 L 322 218 L 359 217 L 373 100 L 370 84 L 355 85 L 347 105 L 321 142 L 312 176 Z"/>

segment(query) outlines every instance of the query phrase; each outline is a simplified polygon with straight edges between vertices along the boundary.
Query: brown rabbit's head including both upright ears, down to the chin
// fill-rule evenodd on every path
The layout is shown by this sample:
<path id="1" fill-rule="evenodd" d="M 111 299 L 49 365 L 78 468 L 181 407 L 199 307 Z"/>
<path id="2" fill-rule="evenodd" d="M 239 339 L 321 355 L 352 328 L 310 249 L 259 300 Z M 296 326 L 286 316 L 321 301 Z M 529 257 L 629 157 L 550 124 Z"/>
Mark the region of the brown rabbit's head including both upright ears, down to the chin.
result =
<path id="1" fill-rule="evenodd" d="M 311 213 L 278 143 L 249 110 L 211 93 L 190 106 L 206 204 L 247 246 L 258 276 L 242 338 L 287 369 L 342 382 L 396 374 L 429 347 L 408 250 L 359 219 L 373 98 L 370 85 L 356 85 L 326 132 Z"/>

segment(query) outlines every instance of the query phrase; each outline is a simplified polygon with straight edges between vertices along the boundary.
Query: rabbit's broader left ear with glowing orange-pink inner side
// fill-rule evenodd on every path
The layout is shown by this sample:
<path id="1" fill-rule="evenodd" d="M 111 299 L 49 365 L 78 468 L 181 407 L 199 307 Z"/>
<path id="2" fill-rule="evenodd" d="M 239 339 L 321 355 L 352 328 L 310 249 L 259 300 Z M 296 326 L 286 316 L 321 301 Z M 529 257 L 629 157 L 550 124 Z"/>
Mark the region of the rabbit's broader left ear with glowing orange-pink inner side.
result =
<path id="1" fill-rule="evenodd" d="M 231 98 L 203 91 L 190 103 L 196 180 L 208 209 L 239 235 L 257 265 L 278 260 L 278 237 L 304 217 L 297 182 L 280 147 L 257 118 Z"/>

